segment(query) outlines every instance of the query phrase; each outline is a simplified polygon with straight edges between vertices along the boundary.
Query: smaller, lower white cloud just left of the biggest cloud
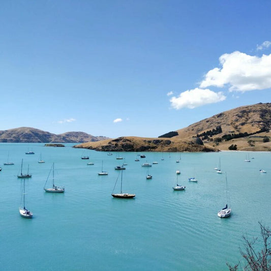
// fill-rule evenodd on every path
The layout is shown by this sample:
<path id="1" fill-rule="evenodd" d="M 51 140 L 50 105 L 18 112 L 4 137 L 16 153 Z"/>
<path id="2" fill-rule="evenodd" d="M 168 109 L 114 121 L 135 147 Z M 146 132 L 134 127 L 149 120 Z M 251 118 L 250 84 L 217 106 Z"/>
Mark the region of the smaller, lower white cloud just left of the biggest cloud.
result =
<path id="1" fill-rule="evenodd" d="M 210 91 L 210 89 L 195 88 L 182 92 L 179 97 L 172 97 L 170 102 L 171 107 L 174 109 L 181 109 L 184 107 L 192 109 L 205 104 L 221 102 L 225 99 L 226 97 L 222 92 L 215 93 Z"/>

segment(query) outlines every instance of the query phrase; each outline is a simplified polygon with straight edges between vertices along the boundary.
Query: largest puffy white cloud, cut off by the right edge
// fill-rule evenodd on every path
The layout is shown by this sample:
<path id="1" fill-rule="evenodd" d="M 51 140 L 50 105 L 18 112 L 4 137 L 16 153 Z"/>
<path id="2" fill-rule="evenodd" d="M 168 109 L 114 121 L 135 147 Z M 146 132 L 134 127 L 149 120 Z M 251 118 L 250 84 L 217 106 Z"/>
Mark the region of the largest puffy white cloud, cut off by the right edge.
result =
<path id="1" fill-rule="evenodd" d="M 219 61 L 222 68 L 208 71 L 201 88 L 229 84 L 230 92 L 246 92 L 271 87 L 271 54 L 258 57 L 235 51 L 221 55 Z"/>

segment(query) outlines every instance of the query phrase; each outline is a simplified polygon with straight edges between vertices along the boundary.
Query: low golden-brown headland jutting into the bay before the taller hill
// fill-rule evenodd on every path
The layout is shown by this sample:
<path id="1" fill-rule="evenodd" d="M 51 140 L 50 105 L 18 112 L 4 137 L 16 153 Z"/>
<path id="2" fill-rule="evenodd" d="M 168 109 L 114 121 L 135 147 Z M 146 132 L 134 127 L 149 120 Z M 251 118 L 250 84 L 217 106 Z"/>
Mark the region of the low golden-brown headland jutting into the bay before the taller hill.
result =
<path id="1" fill-rule="evenodd" d="M 87 142 L 74 146 L 102 152 L 214 152 L 215 148 L 206 147 L 197 138 L 181 140 L 179 138 L 143 138 L 119 137 L 97 142 Z"/>

